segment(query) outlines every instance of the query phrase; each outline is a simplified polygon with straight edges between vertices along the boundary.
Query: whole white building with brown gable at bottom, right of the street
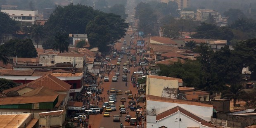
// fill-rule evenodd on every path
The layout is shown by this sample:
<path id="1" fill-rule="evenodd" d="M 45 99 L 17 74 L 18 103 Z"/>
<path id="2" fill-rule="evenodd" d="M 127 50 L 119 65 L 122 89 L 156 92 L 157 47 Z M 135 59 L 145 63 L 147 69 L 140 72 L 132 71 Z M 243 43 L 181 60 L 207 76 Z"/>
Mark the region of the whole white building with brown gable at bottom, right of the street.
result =
<path id="1" fill-rule="evenodd" d="M 214 128 L 213 106 L 147 95 L 147 128 Z"/>

